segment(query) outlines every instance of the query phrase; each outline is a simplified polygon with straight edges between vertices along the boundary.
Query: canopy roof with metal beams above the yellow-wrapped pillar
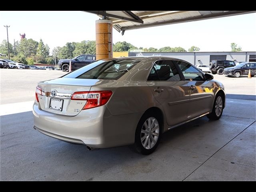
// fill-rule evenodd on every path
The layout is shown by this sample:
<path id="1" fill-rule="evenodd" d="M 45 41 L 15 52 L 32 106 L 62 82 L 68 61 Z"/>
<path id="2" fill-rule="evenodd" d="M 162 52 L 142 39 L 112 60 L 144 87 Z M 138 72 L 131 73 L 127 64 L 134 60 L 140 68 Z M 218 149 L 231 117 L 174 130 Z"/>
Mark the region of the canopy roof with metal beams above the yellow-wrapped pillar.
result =
<path id="1" fill-rule="evenodd" d="M 256 11 L 85 11 L 110 19 L 118 31 L 254 13 Z"/>

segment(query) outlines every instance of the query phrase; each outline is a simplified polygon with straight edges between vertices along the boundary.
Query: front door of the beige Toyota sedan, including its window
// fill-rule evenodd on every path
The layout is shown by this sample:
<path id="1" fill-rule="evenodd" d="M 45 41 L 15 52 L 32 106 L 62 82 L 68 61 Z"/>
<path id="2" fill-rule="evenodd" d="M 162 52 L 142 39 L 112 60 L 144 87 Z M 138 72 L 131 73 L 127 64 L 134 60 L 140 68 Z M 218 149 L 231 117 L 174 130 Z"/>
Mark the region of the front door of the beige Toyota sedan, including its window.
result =
<path id="1" fill-rule="evenodd" d="M 213 90 L 217 88 L 217 85 L 212 81 L 204 81 L 204 75 L 191 64 L 178 62 L 178 66 L 190 92 L 187 118 L 192 119 L 210 112 L 214 99 Z"/>

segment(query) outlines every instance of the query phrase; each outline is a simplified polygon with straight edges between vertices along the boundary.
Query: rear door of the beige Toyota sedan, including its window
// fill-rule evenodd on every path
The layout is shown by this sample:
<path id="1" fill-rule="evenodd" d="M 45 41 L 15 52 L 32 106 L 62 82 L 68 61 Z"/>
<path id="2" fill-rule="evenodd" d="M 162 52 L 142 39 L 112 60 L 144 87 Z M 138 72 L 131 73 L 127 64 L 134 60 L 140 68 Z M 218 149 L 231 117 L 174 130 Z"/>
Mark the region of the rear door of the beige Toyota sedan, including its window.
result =
<path id="1" fill-rule="evenodd" d="M 154 98 L 162 105 L 169 126 L 186 121 L 189 90 L 180 78 L 175 60 L 156 61 L 147 84 Z"/>

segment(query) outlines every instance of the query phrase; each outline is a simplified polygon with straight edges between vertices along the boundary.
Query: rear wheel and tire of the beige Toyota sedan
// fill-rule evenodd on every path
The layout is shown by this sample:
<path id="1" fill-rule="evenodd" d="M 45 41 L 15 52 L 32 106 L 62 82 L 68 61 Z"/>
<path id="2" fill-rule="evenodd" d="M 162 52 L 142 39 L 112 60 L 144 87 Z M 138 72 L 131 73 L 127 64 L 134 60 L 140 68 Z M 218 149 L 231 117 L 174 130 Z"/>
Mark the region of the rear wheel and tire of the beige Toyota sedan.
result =
<path id="1" fill-rule="evenodd" d="M 148 112 L 142 116 L 135 132 L 135 142 L 132 148 L 141 154 L 148 155 L 156 150 L 161 138 L 160 118 Z"/>

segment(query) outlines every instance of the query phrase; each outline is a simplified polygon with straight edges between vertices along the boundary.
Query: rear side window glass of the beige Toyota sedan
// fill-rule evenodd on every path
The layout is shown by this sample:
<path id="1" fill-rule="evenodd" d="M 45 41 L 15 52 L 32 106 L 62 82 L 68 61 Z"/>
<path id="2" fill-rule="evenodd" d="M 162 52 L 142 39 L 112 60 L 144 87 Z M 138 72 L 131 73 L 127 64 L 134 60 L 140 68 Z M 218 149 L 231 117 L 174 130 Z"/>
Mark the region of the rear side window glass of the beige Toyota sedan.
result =
<path id="1" fill-rule="evenodd" d="M 157 61 L 148 76 L 148 81 L 180 81 L 175 62 L 172 60 Z"/>

